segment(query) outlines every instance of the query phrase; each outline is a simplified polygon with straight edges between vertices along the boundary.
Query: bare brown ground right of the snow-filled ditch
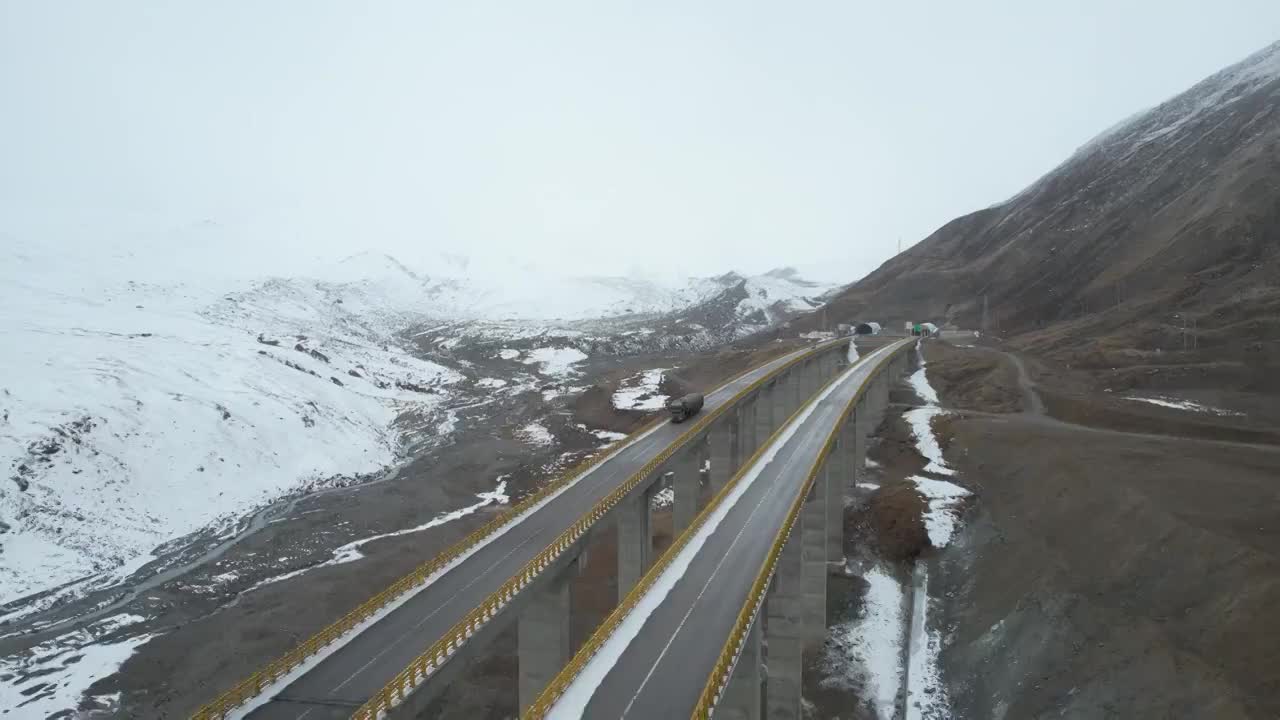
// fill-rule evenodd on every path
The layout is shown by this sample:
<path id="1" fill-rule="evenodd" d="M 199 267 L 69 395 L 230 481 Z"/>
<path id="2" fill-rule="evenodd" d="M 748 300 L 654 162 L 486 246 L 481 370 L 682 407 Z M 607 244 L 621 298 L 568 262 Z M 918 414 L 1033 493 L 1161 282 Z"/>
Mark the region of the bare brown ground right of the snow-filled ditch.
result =
<path id="1" fill-rule="evenodd" d="M 1010 414 L 1010 355 L 929 343 L 929 357 L 943 402 L 972 410 L 943 432 L 980 497 L 931 593 L 947 598 L 955 716 L 1275 716 L 1274 414 L 1149 405 L 1037 361 L 1046 414 Z M 966 383 L 980 366 L 1001 387 Z"/>

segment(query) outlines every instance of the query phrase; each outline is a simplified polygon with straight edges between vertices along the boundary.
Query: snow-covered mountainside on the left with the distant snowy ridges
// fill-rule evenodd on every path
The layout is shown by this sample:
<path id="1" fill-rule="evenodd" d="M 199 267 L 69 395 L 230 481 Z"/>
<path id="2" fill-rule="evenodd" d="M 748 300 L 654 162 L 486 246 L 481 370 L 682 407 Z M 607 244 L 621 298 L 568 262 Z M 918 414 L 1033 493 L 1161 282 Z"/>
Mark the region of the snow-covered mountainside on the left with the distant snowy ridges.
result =
<path id="1" fill-rule="evenodd" d="M 361 254 L 255 279 L 155 254 L 0 251 L 0 606 L 114 583 L 168 541 L 443 441 L 449 405 L 476 391 L 476 342 L 520 341 L 511 377 L 483 382 L 534 391 L 588 355 L 732 340 L 829 290 L 790 270 L 566 278 Z"/>

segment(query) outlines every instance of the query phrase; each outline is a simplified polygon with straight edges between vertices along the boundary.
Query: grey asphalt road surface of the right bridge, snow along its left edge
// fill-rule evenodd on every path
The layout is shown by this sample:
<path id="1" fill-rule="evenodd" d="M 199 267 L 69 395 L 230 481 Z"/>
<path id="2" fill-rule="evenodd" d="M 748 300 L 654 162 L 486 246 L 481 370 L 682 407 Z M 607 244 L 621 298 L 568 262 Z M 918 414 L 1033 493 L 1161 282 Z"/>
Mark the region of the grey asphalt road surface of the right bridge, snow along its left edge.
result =
<path id="1" fill-rule="evenodd" d="M 764 455 L 742 477 L 746 482 L 758 470 L 705 543 L 686 548 L 692 551 L 687 569 L 667 585 L 666 598 L 621 653 L 607 655 L 602 648 L 552 707 L 550 717 L 640 720 L 692 714 L 796 492 L 877 359 L 896 347 L 868 354 L 846 370 L 801 418 L 799 429 L 780 437 L 773 456 Z M 678 571 L 678 562 L 667 570 Z M 658 588 L 662 580 L 650 592 Z M 593 678 L 594 664 L 603 665 Z"/>

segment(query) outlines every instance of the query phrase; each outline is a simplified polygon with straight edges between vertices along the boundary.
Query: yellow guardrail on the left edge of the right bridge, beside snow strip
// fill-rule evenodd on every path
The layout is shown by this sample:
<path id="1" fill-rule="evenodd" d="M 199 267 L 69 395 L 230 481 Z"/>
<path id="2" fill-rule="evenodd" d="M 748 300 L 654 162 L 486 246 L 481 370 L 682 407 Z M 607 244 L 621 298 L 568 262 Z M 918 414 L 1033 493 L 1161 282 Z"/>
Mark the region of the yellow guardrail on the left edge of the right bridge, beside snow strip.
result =
<path id="1" fill-rule="evenodd" d="M 577 651 L 577 653 L 573 655 L 573 659 L 570 660 L 570 662 L 556 675 L 556 678 L 552 679 L 550 683 L 548 683 L 547 688 L 543 689 L 543 692 L 538 696 L 534 703 L 530 705 L 529 710 L 526 710 L 525 714 L 522 715 L 525 720 L 538 720 L 547 716 L 552 706 L 556 705 L 556 702 L 564 694 L 564 691 L 573 682 L 573 679 L 577 678 L 577 675 L 582 671 L 582 667 L 585 667 L 586 664 L 591 660 L 591 657 L 594 657 L 595 653 L 599 652 L 604 642 L 609 638 L 609 635 L 612 635 L 617 630 L 618 625 L 622 624 L 626 616 L 631 614 L 636 603 L 640 602 L 640 598 L 649 592 L 649 588 L 653 587 L 653 584 L 658 580 L 659 577 L 662 577 L 663 571 L 666 571 L 666 569 L 675 561 L 676 556 L 680 555 L 681 550 L 684 550 L 685 546 L 689 544 L 689 542 L 692 539 L 692 537 L 698 534 L 701 527 L 707 524 L 707 519 L 712 515 L 712 512 L 714 512 L 716 509 L 719 507 L 721 503 L 723 503 L 724 498 L 728 497 L 731 492 L 733 492 L 739 482 L 741 482 L 742 477 L 751 469 L 753 465 L 756 464 L 760 456 L 764 455 L 764 452 L 767 452 L 773 446 L 773 443 L 782 434 L 783 429 L 787 425 L 790 425 L 791 421 L 795 420 L 801 413 L 804 413 L 804 410 L 809 407 L 809 405 L 812 405 L 817 400 L 817 397 L 820 396 L 822 392 L 832 383 L 835 383 L 838 378 L 840 375 L 836 375 L 835 378 L 831 378 L 826 383 L 823 383 L 822 387 L 819 387 L 817 392 L 814 392 L 805 402 L 803 402 L 800 407 L 797 407 L 796 411 L 792 413 L 791 416 L 787 418 L 785 423 L 782 423 L 773 430 L 773 433 L 769 436 L 767 441 L 762 442 L 760 446 L 755 448 L 755 452 L 751 454 L 751 457 L 742 462 L 737 473 L 735 473 L 733 477 L 727 483 L 724 483 L 724 487 L 722 487 L 719 492 L 716 493 L 716 496 L 710 500 L 710 502 L 707 503 L 707 507 L 704 507 L 701 512 L 699 512 L 698 516 L 694 518 L 694 521 L 689 525 L 689 528 L 686 528 L 685 532 L 681 533 L 678 538 L 676 538 L 676 542 L 673 542 L 671 547 L 668 547 L 667 551 L 663 552 L 662 557 L 659 557 L 658 561 L 653 565 L 653 568 L 650 568 L 649 571 L 645 573 L 644 578 L 641 578 L 640 582 L 636 583 L 636 585 L 631 589 L 631 592 L 628 592 L 627 596 L 622 598 L 622 602 L 620 602 L 618 606 L 613 609 L 613 612 L 611 612 L 609 616 L 604 619 L 604 623 L 602 623 L 600 626 L 596 628 L 594 633 L 591 633 L 591 637 L 588 638 L 588 641 L 582 644 L 582 647 Z"/>

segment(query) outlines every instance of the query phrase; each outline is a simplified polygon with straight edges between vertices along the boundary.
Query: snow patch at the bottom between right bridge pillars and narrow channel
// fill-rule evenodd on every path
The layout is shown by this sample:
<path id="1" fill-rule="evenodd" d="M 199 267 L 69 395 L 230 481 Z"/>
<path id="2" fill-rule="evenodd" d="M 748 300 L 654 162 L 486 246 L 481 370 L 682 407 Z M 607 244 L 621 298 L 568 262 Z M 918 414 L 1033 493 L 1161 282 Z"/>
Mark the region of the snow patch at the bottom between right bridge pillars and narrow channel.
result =
<path id="1" fill-rule="evenodd" d="M 872 568 L 863 578 L 867 594 L 858 618 L 836 625 L 827 638 L 823 683 L 860 693 L 879 720 L 893 720 L 906 650 L 906 593 L 883 568 Z"/>

